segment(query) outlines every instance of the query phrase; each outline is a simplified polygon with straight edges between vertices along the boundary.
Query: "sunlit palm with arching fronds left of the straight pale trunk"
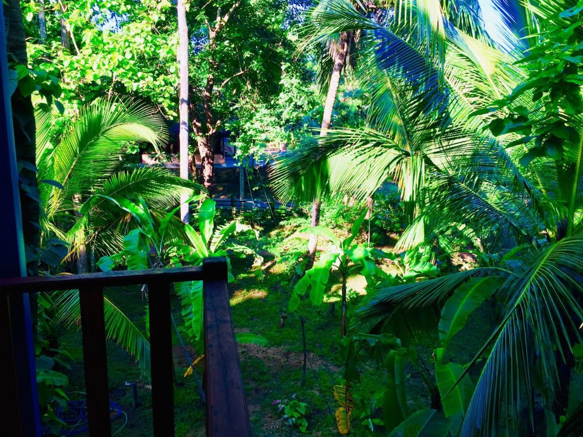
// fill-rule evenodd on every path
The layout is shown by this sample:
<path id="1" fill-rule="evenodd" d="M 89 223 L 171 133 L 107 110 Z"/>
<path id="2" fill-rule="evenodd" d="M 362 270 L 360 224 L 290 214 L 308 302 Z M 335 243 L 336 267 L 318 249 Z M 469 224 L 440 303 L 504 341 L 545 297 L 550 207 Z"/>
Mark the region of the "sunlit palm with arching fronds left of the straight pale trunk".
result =
<path id="1" fill-rule="evenodd" d="M 43 238 L 56 235 L 70 244 L 70 256 L 82 252 L 87 242 L 97 255 L 116 251 L 127 231 L 125 214 L 104 209 L 106 203 L 96 200 L 86 206 L 88 196 L 124 195 L 166 208 L 200 188 L 163 168 L 124 169 L 121 153 L 129 144 L 142 141 L 158 147 L 167 138 L 163 118 L 146 105 L 117 98 L 93 101 L 55 146 L 50 108 L 39 105 L 36 114 Z"/>

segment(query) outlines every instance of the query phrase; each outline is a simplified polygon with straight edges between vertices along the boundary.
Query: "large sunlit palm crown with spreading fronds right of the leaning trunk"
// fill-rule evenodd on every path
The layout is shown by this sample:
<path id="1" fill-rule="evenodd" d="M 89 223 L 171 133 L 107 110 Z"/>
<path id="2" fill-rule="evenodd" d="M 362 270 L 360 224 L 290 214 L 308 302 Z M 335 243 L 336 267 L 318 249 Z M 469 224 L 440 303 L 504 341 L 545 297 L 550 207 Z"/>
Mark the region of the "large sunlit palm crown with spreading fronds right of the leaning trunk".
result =
<path id="1" fill-rule="evenodd" d="M 468 116 L 515 86 L 521 72 L 508 65 L 512 59 L 451 28 L 440 79 L 438 67 L 427 65 L 423 44 L 399 37 L 361 16 L 348 3 L 335 3 L 327 23 L 322 26 L 323 34 L 355 28 L 364 31 L 369 56 L 361 61 L 358 76 L 373 84 L 368 110 L 371 127 L 332 131 L 318 144 L 280 160 L 272 172 L 280 197 L 309 202 L 310 196 L 323 193 L 363 199 L 391 175 L 399 181 L 403 200 L 414 212 L 427 164 L 447 170 L 451 161 L 444 156 L 464 158 L 476 145 L 482 145 L 490 159 L 497 154 L 507 158 L 496 141 L 478 132 L 488 118 Z M 410 218 L 415 218 L 413 212 Z"/>

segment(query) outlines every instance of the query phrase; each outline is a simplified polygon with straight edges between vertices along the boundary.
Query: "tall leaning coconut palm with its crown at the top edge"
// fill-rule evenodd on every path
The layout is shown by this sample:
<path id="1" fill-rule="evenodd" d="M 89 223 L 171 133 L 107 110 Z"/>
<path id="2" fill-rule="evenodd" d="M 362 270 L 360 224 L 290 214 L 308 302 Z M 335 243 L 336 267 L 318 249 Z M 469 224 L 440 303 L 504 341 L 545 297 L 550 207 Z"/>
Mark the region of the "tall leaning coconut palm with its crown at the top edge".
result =
<path id="1" fill-rule="evenodd" d="M 374 6 L 374 5 L 372 5 Z M 381 5 L 382 6 L 382 3 Z M 321 45 L 322 47 L 330 48 L 331 54 L 335 54 L 332 76 L 329 81 L 328 97 L 326 98 L 326 106 L 324 111 L 324 118 L 322 119 L 322 127 L 320 131 L 320 136 L 325 136 L 329 131 L 329 115 L 332 111 L 332 105 L 336 94 L 336 89 L 338 88 L 339 73 L 344 66 L 344 59 L 346 54 L 349 52 L 347 50 L 350 47 L 355 46 L 354 35 L 359 35 L 362 43 L 359 44 L 360 51 L 374 50 L 375 43 L 372 40 L 386 38 L 382 43 L 384 43 L 385 56 L 387 56 L 387 48 L 389 46 L 389 41 L 392 40 L 392 45 L 388 48 L 389 52 L 394 53 L 396 58 L 401 58 L 401 64 L 403 61 L 407 62 L 408 65 L 401 68 L 406 69 L 410 66 L 410 56 L 411 48 L 408 45 L 413 44 L 414 50 L 417 51 L 417 55 L 424 57 L 424 64 L 419 64 L 420 57 L 415 57 L 414 62 L 417 62 L 414 71 L 409 71 L 408 76 L 413 78 L 417 82 L 420 79 L 426 80 L 430 79 L 433 82 L 431 86 L 437 87 L 440 84 L 440 79 L 442 73 L 446 68 L 445 63 L 445 43 L 451 38 L 457 38 L 458 45 L 465 46 L 465 42 L 461 41 L 463 38 L 462 34 L 458 34 L 458 28 L 468 31 L 471 36 L 467 36 L 468 39 L 476 41 L 477 44 L 482 43 L 484 47 L 487 45 L 492 45 L 492 41 L 486 32 L 483 30 L 482 17 L 480 13 L 479 3 L 477 1 L 456 1 L 456 2 L 442 2 L 438 0 L 426 0 L 413 2 L 396 2 L 394 5 L 389 6 L 385 9 L 388 15 L 391 16 L 388 20 L 380 20 L 378 16 L 373 12 L 373 18 L 367 17 L 367 11 L 371 9 L 371 5 L 367 3 L 366 6 L 360 2 L 356 2 L 355 7 L 349 2 L 344 1 L 326 1 L 321 2 L 319 5 L 312 9 L 309 19 L 304 24 L 305 34 L 308 35 L 303 47 L 310 47 L 314 45 Z M 382 8 L 377 8 L 374 6 L 373 10 L 380 10 Z M 451 23 L 456 27 L 452 27 Z M 389 29 L 387 33 L 387 28 Z M 360 38 L 361 33 L 364 33 L 364 37 Z M 350 36 L 352 41 L 348 41 L 347 37 Z M 402 44 L 401 44 L 402 43 Z M 416 47 L 415 47 L 416 46 Z M 336 50 L 332 50 L 336 48 Z M 395 48 L 398 48 L 395 50 Z M 466 47 L 462 47 L 465 50 Z M 382 50 L 382 49 L 381 49 Z M 352 48 L 354 51 L 354 48 Z M 325 50 L 324 52 L 327 52 Z M 381 57 L 382 55 L 378 55 Z M 321 57 L 325 61 L 330 61 L 327 55 Z M 341 62 L 338 62 L 340 59 Z M 371 72 L 371 69 L 375 69 L 377 65 L 375 62 L 373 64 L 367 61 L 366 54 L 360 56 L 360 61 L 364 64 L 363 68 L 359 68 L 359 77 L 365 77 L 366 80 L 372 79 L 371 82 L 375 83 L 375 79 L 380 79 L 380 82 L 376 83 L 387 83 L 387 80 L 379 77 L 375 77 L 378 73 Z M 369 57 L 370 59 L 370 57 Z M 477 61 L 477 59 L 476 59 Z M 391 61 L 389 61 L 391 62 Z M 427 64 L 433 63 L 436 65 L 436 74 L 430 74 L 429 77 L 422 71 L 426 69 Z M 476 62 L 477 63 L 477 62 Z M 325 71 L 323 66 L 328 65 L 329 62 L 322 62 L 319 68 L 319 72 Z M 387 68 L 387 65 L 384 66 Z M 459 73 L 459 71 L 458 71 Z M 381 73 L 382 74 L 382 73 Z M 319 74 L 319 81 L 324 84 L 324 80 L 321 80 L 324 75 Z M 417 76 L 417 77 L 416 77 Z M 424 84 L 427 87 L 427 83 Z M 389 87 L 380 87 L 380 89 L 375 90 L 374 102 L 386 103 L 387 100 L 391 100 L 391 97 L 387 97 L 387 93 L 395 93 L 395 84 L 389 84 Z M 438 93 L 441 94 L 441 93 Z M 375 105 L 373 104 L 373 107 Z M 378 109 L 378 108 L 377 108 Z M 373 114 L 373 111 L 370 111 Z M 381 124 L 385 121 L 390 120 L 390 117 L 385 117 L 385 113 L 378 114 L 380 117 L 376 117 L 377 121 L 381 120 Z M 374 122 L 373 122 L 374 124 Z M 324 140 L 324 143 L 326 141 Z M 311 149 L 304 149 L 307 152 Z M 286 165 L 285 163 L 283 164 Z M 277 176 L 278 171 L 276 171 L 276 179 L 280 179 Z M 321 192 L 320 184 L 312 184 L 315 188 L 314 198 L 312 202 L 312 225 L 318 224 L 319 217 L 319 205 L 320 200 L 323 196 L 326 196 L 325 187 L 322 187 L 324 191 Z M 374 191 L 373 191 L 374 192 Z M 372 193 L 370 195 L 372 195 Z M 285 193 L 280 192 L 280 195 L 285 196 Z M 307 201 L 307 200 L 306 200 Z M 310 245 L 308 250 L 308 255 L 313 258 L 315 253 L 315 248 L 317 244 L 317 237 L 315 235 L 310 236 Z"/>

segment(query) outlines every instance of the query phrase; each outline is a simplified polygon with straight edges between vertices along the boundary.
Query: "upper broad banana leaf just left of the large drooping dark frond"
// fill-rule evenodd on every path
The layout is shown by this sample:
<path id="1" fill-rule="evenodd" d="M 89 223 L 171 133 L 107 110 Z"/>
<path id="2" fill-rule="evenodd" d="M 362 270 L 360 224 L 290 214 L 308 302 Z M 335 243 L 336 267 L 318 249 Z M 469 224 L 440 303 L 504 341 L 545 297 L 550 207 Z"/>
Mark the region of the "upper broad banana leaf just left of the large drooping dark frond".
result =
<path id="1" fill-rule="evenodd" d="M 441 310 L 438 329 L 444 346 L 463 328 L 470 313 L 482 305 L 499 286 L 498 277 L 477 277 L 463 283 L 454 291 Z"/>

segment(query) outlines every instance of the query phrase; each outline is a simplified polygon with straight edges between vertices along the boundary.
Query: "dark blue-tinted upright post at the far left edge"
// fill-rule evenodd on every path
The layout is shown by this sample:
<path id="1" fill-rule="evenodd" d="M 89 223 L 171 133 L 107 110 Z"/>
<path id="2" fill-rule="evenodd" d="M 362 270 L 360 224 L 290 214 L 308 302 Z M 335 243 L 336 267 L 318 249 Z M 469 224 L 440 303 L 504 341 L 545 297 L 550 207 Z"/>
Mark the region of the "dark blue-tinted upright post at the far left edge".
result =
<path id="1" fill-rule="evenodd" d="M 0 263 L 0 277 L 16 277 L 26 276 L 26 261 L 4 29 L 4 12 L 0 8 L 0 186 L 5 206 L 0 215 L 5 255 Z M 8 400 L 2 412 L 3 417 L 7 418 L 3 421 L 2 431 L 5 435 L 40 436 L 29 294 L 2 295 L 0 316 L 0 347 L 3 351 L 0 371 L 6 383 L 4 397 Z"/>

